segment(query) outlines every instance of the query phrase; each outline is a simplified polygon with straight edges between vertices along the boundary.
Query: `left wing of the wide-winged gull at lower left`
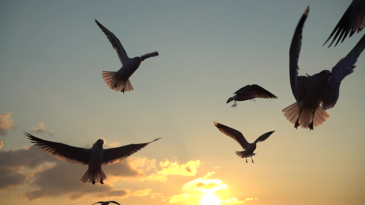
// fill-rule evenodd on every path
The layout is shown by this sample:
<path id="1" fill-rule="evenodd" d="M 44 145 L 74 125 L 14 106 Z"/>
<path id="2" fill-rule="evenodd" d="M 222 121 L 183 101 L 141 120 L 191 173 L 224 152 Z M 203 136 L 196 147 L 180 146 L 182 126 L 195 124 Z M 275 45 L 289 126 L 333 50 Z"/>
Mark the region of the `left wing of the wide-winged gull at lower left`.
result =
<path id="1" fill-rule="evenodd" d="M 27 132 L 24 133 L 31 143 L 39 146 L 47 154 L 55 158 L 75 165 L 87 165 L 89 163 L 89 150 L 81 147 L 73 147 L 59 142 L 51 142 L 39 139 Z"/>

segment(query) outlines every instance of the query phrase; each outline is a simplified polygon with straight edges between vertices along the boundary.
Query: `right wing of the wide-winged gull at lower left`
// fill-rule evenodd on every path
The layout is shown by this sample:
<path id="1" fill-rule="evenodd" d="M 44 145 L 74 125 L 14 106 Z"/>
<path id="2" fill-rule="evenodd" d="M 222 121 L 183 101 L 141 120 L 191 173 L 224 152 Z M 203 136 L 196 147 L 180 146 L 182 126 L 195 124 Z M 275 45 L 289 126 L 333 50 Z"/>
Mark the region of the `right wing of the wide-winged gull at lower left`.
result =
<path id="1" fill-rule="evenodd" d="M 156 140 L 159 140 L 161 138 L 157 138 L 151 142 L 154 142 Z M 138 150 L 141 150 L 143 147 L 146 147 L 147 143 L 141 143 L 141 144 L 128 144 L 124 145 L 122 147 L 114 147 L 104 150 L 103 159 L 101 160 L 102 165 L 111 165 L 120 162 L 121 160 L 127 158 L 128 156 L 134 154 Z"/>

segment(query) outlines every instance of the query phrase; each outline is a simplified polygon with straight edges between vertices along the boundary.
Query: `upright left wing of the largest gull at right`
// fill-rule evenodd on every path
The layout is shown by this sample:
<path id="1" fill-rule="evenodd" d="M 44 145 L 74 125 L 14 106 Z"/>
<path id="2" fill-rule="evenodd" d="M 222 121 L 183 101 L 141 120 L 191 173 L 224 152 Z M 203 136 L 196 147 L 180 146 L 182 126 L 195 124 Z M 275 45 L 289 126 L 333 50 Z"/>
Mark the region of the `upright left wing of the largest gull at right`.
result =
<path id="1" fill-rule="evenodd" d="M 301 49 L 301 40 L 303 38 L 302 32 L 303 32 L 303 26 L 304 22 L 307 19 L 309 12 L 309 6 L 304 11 L 303 15 L 301 16 L 299 23 L 294 31 L 293 39 L 290 44 L 289 49 L 289 77 L 290 77 L 290 86 L 292 88 L 293 96 L 295 97 L 296 101 L 300 101 L 300 94 L 297 92 L 297 86 L 298 86 L 298 60 L 299 60 L 299 54 Z M 300 76 L 301 78 L 306 78 L 305 76 Z M 306 82 L 305 80 L 301 80 L 302 82 Z M 303 83 L 301 83 L 303 84 Z M 304 85 L 303 85 L 304 86 Z"/>

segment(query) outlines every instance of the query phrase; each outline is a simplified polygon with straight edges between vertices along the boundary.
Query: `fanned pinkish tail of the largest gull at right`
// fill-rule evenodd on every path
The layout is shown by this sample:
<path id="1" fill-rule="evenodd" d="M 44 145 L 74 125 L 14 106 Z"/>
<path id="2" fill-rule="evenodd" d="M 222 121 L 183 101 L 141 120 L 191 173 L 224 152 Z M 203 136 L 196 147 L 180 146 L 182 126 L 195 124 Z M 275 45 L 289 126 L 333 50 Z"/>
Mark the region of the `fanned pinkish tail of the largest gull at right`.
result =
<path id="1" fill-rule="evenodd" d="M 282 112 L 284 112 L 284 116 L 287 117 L 287 120 L 289 120 L 292 124 L 296 122 L 300 113 L 299 124 L 302 128 L 307 129 L 309 124 L 312 122 L 313 109 L 300 108 L 297 102 L 284 108 Z M 321 106 L 318 106 L 314 113 L 313 126 L 317 127 L 318 125 L 323 124 L 323 122 L 326 121 L 326 118 L 328 117 L 330 117 L 328 113 L 324 111 Z"/>

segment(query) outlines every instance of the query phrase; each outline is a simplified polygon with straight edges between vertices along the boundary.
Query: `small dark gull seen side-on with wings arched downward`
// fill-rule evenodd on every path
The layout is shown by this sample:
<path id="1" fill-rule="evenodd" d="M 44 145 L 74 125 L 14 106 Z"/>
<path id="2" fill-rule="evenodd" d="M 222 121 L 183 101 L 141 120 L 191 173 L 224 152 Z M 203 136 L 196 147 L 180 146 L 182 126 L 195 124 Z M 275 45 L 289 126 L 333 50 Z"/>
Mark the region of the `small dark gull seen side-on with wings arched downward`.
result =
<path id="1" fill-rule="evenodd" d="M 236 101 L 245 101 L 245 100 L 252 100 L 256 101 L 255 98 L 277 98 L 274 94 L 270 93 L 269 91 L 265 90 L 259 85 L 246 85 L 245 87 L 237 90 L 235 96 L 228 98 L 227 103 L 234 100 L 233 105 L 231 107 L 236 107 Z"/>

